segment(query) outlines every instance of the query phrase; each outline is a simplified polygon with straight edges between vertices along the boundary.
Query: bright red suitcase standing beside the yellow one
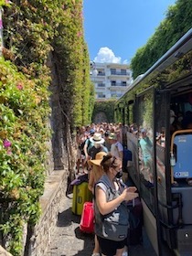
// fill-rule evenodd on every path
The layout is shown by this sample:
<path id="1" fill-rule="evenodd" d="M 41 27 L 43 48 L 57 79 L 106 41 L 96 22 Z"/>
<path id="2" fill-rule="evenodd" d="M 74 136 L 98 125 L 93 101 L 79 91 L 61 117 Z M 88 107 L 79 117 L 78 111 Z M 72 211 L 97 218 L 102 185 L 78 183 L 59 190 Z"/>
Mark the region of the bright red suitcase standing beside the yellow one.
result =
<path id="1" fill-rule="evenodd" d="M 86 233 L 94 232 L 94 208 L 92 202 L 85 202 L 83 204 L 80 230 Z"/>

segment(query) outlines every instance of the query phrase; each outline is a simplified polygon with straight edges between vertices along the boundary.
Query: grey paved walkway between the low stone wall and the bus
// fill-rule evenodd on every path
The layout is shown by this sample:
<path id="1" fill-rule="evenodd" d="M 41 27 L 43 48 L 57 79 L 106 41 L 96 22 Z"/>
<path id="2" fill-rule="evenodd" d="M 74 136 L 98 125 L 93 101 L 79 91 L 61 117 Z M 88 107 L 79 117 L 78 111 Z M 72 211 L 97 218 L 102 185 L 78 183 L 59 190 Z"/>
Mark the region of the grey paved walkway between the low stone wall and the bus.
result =
<path id="1" fill-rule="evenodd" d="M 93 235 L 80 232 L 80 217 L 71 213 L 72 194 L 69 197 L 63 197 L 60 204 L 57 227 L 46 256 L 91 256 L 94 246 Z M 143 245 L 131 247 L 129 256 L 156 256 L 156 254 L 144 236 Z"/>

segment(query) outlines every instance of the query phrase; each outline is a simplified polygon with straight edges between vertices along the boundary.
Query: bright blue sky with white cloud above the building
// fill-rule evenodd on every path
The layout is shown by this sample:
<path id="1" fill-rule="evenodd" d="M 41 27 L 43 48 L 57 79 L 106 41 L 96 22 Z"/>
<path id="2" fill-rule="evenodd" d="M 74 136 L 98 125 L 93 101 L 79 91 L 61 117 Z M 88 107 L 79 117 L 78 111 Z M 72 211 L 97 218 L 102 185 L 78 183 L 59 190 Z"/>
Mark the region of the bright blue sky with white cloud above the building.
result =
<path id="1" fill-rule="evenodd" d="M 84 0 L 84 34 L 90 59 L 130 63 L 176 0 Z"/>

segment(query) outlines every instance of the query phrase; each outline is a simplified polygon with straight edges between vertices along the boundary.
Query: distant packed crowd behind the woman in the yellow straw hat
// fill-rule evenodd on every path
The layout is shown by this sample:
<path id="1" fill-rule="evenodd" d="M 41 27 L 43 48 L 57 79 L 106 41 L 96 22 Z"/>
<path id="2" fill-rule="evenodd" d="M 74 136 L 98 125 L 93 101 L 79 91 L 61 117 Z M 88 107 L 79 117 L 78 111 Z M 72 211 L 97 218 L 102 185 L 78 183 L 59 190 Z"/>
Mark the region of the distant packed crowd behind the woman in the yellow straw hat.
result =
<path id="1" fill-rule="evenodd" d="M 77 174 L 86 172 L 88 160 L 99 152 L 111 152 L 123 158 L 122 123 L 100 123 L 82 126 L 77 131 Z"/>

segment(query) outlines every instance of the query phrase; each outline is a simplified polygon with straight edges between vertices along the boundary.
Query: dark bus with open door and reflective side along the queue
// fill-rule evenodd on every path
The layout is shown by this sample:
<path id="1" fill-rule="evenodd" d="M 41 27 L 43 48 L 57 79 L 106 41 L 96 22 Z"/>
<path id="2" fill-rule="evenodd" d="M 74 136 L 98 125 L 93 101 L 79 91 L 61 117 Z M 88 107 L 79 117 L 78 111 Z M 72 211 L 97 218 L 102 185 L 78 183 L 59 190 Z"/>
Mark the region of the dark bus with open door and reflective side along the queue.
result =
<path id="1" fill-rule="evenodd" d="M 192 28 L 115 105 L 157 255 L 192 255 Z M 167 254 L 168 255 L 168 254 Z M 170 255 L 170 254 L 169 254 Z"/>

